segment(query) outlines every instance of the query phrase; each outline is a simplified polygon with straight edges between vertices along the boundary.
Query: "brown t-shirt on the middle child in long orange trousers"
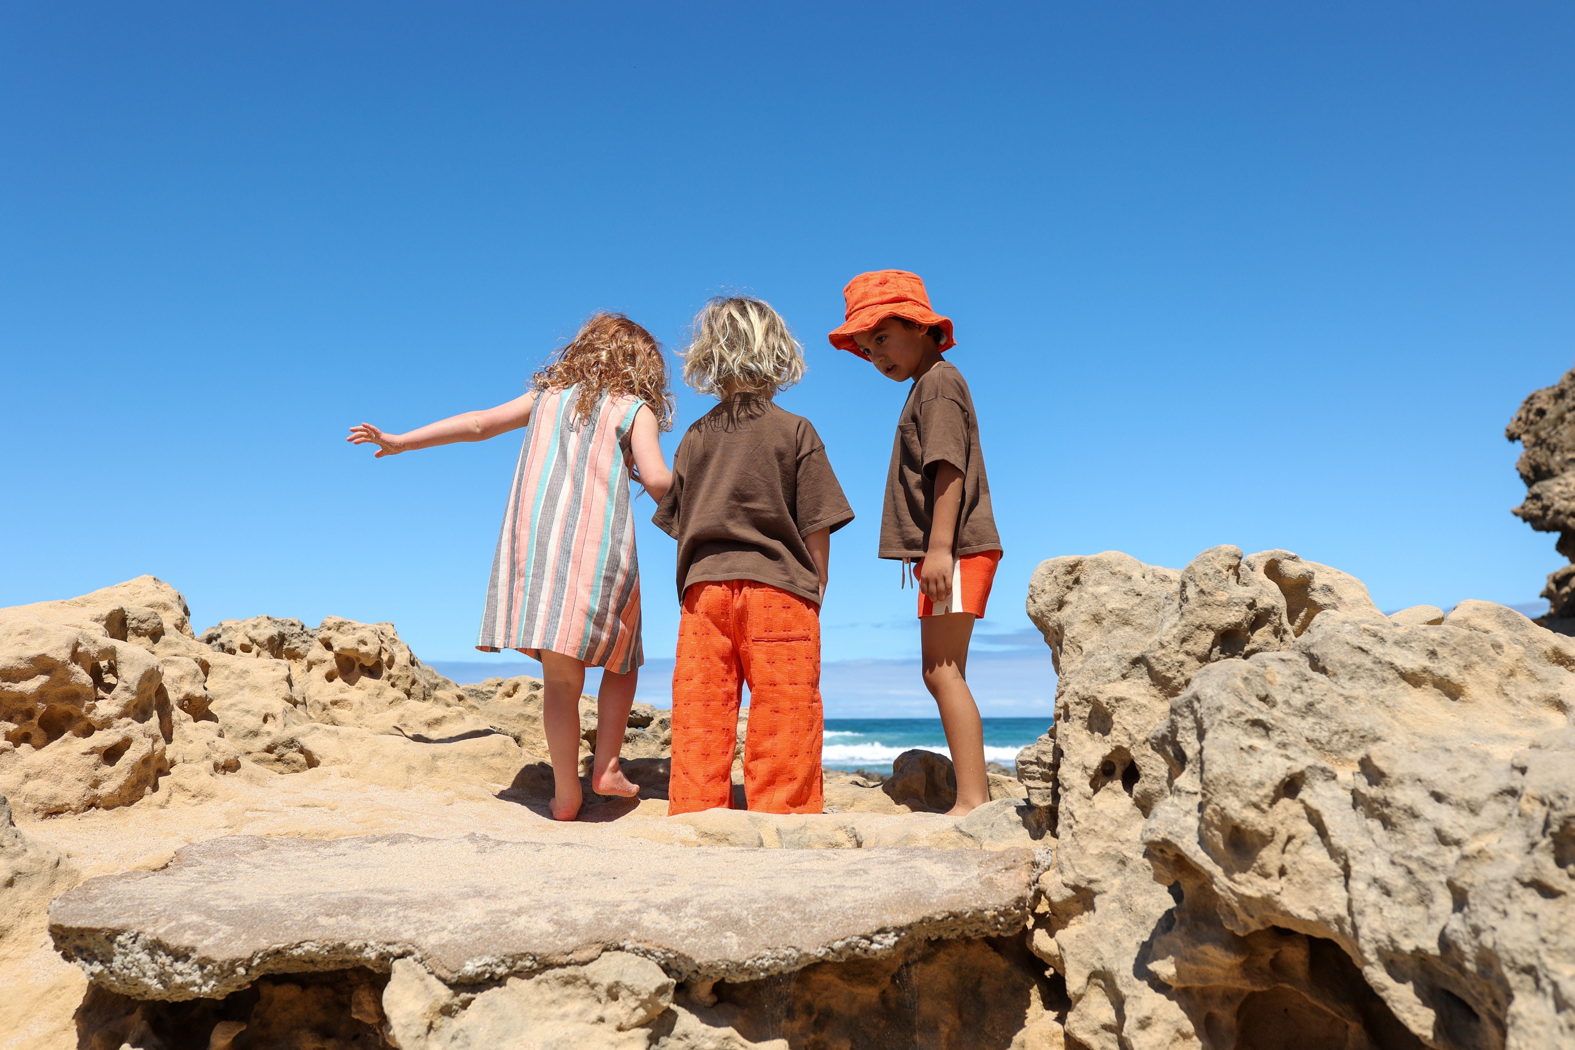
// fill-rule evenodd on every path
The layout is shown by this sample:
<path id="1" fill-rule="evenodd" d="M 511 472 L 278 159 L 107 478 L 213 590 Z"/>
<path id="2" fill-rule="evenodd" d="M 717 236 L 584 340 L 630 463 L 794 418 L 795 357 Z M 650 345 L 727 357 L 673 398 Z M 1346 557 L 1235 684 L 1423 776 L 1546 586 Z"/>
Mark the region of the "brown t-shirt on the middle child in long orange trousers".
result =
<path id="1" fill-rule="evenodd" d="M 684 433 L 650 519 L 679 542 L 679 601 L 691 584 L 753 579 L 819 604 L 803 537 L 841 529 L 854 508 L 808 419 L 737 397 Z"/>

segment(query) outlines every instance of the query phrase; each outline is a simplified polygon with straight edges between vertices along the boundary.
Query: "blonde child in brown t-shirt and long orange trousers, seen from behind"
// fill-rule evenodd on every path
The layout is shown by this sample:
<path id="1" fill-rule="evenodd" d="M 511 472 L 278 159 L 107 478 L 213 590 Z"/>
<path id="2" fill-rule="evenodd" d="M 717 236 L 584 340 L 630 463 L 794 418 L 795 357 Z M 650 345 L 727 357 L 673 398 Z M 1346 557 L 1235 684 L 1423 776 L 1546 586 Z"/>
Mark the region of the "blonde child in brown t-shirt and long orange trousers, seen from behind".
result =
<path id="1" fill-rule="evenodd" d="M 772 398 L 803 354 L 759 299 L 712 299 L 684 379 L 718 398 L 673 457 L 652 521 L 679 542 L 668 812 L 732 806 L 743 685 L 750 809 L 821 812 L 821 598 L 832 532 L 854 519 L 810 420 Z"/>

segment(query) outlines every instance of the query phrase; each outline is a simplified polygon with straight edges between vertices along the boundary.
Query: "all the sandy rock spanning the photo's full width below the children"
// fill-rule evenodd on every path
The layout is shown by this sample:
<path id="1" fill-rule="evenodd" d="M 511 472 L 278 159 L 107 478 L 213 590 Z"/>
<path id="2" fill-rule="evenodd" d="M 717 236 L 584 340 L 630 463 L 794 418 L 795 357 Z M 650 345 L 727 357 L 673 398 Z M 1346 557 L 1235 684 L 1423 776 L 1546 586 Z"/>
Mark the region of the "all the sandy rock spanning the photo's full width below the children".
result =
<path id="1" fill-rule="evenodd" d="M 0 611 L 0 1048 L 1575 1045 L 1575 639 L 1230 546 L 1028 612 L 1055 726 L 964 819 L 929 752 L 668 817 L 636 707 L 641 798 L 558 825 L 534 678 L 151 578 Z"/>

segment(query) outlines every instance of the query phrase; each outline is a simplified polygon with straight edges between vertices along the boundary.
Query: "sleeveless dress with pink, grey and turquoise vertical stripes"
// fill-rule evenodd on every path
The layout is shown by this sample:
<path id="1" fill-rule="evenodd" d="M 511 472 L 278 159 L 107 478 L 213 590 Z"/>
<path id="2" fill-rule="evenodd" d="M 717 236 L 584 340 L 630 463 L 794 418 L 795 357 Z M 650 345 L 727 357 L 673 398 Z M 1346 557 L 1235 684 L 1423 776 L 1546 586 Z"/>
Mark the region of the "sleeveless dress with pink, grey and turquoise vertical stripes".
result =
<path id="1" fill-rule="evenodd" d="M 603 394 L 580 419 L 576 390 L 536 398 L 476 649 L 518 649 L 536 660 L 547 649 L 627 674 L 644 663 L 624 461 L 641 401 Z"/>

